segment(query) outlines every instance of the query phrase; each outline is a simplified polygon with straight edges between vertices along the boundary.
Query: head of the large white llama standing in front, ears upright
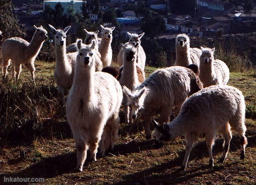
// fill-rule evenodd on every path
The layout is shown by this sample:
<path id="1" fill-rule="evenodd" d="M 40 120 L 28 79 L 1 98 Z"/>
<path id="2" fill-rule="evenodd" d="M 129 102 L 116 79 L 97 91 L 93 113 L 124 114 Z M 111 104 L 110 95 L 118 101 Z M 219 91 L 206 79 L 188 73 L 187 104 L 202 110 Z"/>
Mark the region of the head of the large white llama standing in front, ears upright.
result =
<path id="1" fill-rule="evenodd" d="M 95 63 L 94 49 L 96 42 L 93 40 L 92 44 L 86 45 L 82 43 L 81 39 L 77 40 L 77 48 L 79 54 L 77 55 L 77 65 L 81 68 L 93 68 Z"/>

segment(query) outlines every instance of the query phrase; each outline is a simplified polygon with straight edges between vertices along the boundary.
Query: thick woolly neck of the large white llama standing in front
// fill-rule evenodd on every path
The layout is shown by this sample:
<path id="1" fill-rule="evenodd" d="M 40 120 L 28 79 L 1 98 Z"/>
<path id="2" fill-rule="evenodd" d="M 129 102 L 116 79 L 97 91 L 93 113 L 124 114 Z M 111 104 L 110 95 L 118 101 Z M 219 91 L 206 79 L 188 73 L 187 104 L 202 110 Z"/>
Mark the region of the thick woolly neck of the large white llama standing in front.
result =
<path id="1" fill-rule="evenodd" d="M 75 94 L 80 95 L 84 103 L 93 102 L 96 94 L 94 90 L 94 74 L 95 67 L 84 68 L 79 65 L 76 66 L 73 86 L 76 87 L 74 90 Z"/>

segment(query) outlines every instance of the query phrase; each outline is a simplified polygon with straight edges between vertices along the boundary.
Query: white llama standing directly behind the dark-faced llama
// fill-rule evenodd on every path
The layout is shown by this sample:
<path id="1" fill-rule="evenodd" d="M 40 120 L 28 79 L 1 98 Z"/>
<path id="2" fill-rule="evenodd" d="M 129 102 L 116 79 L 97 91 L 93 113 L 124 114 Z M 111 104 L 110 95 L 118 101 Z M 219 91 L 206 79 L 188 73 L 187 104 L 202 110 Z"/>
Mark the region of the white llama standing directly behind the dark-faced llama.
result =
<path id="1" fill-rule="evenodd" d="M 132 45 L 132 46 L 136 46 L 137 47 L 137 63 L 141 66 L 141 68 L 144 70 L 145 69 L 145 63 L 146 63 L 146 54 L 144 52 L 143 47 L 141 46 L 141 38 L 143 37 L 143 35 L 145 33 L 141 33 L 141 34 L 135 34 L 135 33 L 129 33 L 127 32 L 128 36 L 129 36 L 129 42 L 126 42 L 125 44 L 122 44 L 122 47 L 118 53 L 117 56 L 117 63 L 119 66 L 123 65 L 123 52 L 125 49 L 125 46 L 127 46 L 128 44 Z"/>

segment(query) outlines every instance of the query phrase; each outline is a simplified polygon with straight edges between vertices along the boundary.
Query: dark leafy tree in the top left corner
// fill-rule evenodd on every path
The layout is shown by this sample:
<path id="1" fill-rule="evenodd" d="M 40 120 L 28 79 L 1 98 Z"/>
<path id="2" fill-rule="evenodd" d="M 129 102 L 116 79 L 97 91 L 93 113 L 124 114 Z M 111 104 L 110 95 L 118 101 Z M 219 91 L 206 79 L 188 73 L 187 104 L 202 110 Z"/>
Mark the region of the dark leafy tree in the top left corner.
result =
<path id="1" fill-rule="evenodd" d="M 21 37 L 24 31 L 14 18 L 12 8 L 12 1 L 0 0 L 0 28 L 5 38 Z"/>

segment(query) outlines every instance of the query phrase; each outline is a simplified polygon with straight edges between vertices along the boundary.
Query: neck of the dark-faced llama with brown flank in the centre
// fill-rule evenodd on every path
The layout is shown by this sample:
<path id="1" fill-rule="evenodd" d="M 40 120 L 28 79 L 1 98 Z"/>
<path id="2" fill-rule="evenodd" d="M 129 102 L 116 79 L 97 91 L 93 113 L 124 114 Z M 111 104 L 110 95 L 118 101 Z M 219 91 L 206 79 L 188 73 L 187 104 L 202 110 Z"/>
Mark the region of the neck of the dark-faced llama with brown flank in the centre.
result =
<path id="1" fill-rule="evenodd" d="M 136 59 L 134 61 L 125 61 L 123 67 L 124 84 L 131 90 L 134 90 L 139 85 L 138 74 L 136 70 Z"/>

